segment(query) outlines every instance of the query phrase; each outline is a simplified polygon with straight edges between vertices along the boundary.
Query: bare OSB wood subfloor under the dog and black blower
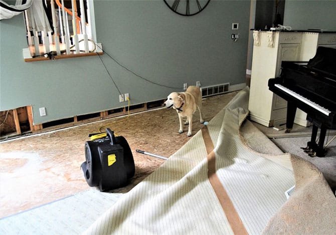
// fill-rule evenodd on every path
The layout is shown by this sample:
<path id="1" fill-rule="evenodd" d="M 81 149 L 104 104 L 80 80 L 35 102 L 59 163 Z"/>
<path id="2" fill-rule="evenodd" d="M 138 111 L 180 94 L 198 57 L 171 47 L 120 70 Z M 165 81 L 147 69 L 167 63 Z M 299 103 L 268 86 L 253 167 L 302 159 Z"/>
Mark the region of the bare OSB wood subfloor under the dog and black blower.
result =
<path id="1" fill-rule="evenodd" d="M 204 120 L 210 121 L 236 94 L 204 99 Z M 80 169 L 85 161 L 84 144 L 89 140 L 88 134 L 124 118 L 0 143 L 0 218 L 89 189 Z M 203 125 L 196 111 L 193 135 Z M 136 149 L 169 157 L 190 139 L 187 126 L 185 132 L 179 134 L 178 115 L 172 109 L 130 115 L 125 121 L 109 127 L 126 138 L 135 162 L 135 175 L 130 184 L 113 192 L 129 191 L 164 161 L 137 153 Z"/>

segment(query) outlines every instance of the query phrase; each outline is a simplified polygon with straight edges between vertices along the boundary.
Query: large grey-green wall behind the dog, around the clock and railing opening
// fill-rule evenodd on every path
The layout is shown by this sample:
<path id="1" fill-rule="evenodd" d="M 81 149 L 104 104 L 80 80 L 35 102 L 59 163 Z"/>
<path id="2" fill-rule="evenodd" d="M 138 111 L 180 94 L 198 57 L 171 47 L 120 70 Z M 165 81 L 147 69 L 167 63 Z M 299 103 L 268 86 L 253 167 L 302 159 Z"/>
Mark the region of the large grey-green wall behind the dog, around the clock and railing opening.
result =
<path id="1" fill-rule="evenodd" d="M 183 83 L 202 86 L 245 82 L 249 1 L 211 1 L 193 17 L 163 1 L 94 1 L 96 36 L 104 51 L 149 83 L 101 56 L 131 104 L 163 99 Z M 239 30 L 232 31 L 232 23 Z M 32 105 L 35 124 L 127 105 L 100 59 L 82 57 L 24 62 L 23 16 L 0 22 L 0 110 Z M 239 33 L 239 40 L 231 40 Z M 39 108 L 47 116 L 40 117 Z"/>

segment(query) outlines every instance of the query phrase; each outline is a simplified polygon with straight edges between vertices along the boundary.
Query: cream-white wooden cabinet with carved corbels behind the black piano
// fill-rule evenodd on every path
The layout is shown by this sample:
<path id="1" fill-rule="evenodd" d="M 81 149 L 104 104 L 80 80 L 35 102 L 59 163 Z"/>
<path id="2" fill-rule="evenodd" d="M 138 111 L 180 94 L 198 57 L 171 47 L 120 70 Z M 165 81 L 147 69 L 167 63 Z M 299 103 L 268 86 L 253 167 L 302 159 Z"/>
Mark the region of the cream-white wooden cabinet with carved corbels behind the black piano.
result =
<path id="1" fill-rule="evenodd" d="M 336 47 L 336 33 L 253 31 L 250 119 L 264 126 L 286 123 L 287 101 L 268 90 L 268 80 L 280 76 L 282 61 L 308 61 L 318 46 Z M 294 123 L 308 126 L 297 109 Z"/>

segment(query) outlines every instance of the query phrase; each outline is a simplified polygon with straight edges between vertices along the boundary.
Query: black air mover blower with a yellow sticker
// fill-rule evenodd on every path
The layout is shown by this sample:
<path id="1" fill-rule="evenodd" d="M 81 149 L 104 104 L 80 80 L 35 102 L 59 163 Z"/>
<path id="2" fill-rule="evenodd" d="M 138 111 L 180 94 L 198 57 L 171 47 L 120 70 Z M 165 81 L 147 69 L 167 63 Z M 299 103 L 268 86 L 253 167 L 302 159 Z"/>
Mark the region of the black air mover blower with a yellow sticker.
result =
<path id="1" fill-rule="evenodd" d="M 106 129 L 106 137 L 85 142 L 85 159 L 82 163 L 86 182 L 108 191 L 125 186 L 134 176 L 133 155 L 126 139 L 114 136 Z"/>

